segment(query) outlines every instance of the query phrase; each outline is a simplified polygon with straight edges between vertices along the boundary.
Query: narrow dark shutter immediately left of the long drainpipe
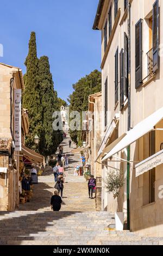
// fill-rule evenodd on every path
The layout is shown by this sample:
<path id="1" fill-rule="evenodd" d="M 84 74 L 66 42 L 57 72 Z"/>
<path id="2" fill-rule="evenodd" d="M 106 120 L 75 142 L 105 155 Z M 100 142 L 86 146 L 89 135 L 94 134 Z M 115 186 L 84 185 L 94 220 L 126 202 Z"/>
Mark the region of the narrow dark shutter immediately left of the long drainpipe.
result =
<path id="1" fill-rule="evenodd" d="M 124 32 L 124 58 L 123 59 L 124 59 L 123 60 L 123 66 L 124 66 L 123 88 L 124 88 L 124 95 L 128 97 L 128 36 L 125 32 Z"/>

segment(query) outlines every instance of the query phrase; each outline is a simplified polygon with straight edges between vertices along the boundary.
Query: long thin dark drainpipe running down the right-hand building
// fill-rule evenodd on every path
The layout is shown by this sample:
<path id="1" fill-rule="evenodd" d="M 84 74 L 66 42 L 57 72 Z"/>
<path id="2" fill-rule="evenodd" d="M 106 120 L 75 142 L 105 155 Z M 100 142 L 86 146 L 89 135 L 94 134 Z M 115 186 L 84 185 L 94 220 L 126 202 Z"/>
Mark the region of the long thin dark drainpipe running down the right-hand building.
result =
<path id="1" fill-rule="evenodd" d="M 130 74 L 131 74 L 131 42 L 130 42 L 130 24 L 131 24 L 131 13 L 130 13 L 130 2 L 128 1 L 128 131 L 130 130 L 131 123 L 131 101 L 130 101 Z M 130 145 L 127 147 L 127 229 L 130 230 Z"/>

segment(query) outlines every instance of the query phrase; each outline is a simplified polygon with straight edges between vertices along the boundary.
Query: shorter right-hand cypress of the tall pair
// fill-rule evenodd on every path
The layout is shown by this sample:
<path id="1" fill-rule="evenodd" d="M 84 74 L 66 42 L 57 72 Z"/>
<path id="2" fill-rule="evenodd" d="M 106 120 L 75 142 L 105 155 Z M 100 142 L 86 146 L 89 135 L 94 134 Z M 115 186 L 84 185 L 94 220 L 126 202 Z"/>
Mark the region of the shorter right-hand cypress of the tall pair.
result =
<path id="1" fill-rule="evenodd" d="M 53 78 L 50 71 L 47 56 L 39 59 L 39 79 L 41 85 L 41 105 L 42 105 L 42 136 L 40 138 L 41 154 L 48 156 L 54 154 L 60 143 L 59 131 L 54 131 L 52 127 L 53 112 L 58 110 L 59 102 L 56 92 L 54 92 Z"/>

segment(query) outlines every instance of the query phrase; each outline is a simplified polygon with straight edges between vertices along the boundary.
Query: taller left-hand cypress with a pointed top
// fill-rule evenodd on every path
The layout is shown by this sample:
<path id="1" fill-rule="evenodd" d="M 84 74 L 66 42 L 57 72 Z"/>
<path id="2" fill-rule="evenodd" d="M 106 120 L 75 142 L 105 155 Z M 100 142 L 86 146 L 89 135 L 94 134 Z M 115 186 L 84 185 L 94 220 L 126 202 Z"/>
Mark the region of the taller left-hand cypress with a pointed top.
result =
<path id="1" fill-rule="evenodd" d="M 36 35 L 35 32 L 32 32 L 30 34 L 28 56 L 24 63 L 26 65 L 27 72 L 26 75 L 24 75 L 25 89 L 23 93 L 23 107 L 28 109 L 30 121 L 26 144 L 29 148 L 35 150 L 36 145 L 34 144 L 34 137 L 35 135 L 40 137 L 42 127 L 42 106 L 38 63 L 39 59 L 37 58 Z"/>

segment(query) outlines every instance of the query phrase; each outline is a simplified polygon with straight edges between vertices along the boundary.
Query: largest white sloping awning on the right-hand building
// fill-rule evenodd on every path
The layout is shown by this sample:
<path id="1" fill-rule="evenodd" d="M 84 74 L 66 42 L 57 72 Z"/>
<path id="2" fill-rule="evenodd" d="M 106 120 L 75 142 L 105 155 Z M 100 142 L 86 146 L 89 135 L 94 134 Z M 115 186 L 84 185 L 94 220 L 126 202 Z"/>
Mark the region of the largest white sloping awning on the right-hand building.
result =
<path id="1" fill-rule="evenodd" d="M 132 130 L 128 131 L 127 135 L 121 139 L 121 141 L 112 150 L 110 150 L 110 152 L 102 159 L 102 161 L 105 161 L 109 157 L 126 148 L 131 143 L 135 142 L 137 139 L 141 138 L 146 133 L 152 131 L 154 126 L 158 124 L 162 119 L 163 107 L 135 125 Z"/>

